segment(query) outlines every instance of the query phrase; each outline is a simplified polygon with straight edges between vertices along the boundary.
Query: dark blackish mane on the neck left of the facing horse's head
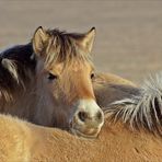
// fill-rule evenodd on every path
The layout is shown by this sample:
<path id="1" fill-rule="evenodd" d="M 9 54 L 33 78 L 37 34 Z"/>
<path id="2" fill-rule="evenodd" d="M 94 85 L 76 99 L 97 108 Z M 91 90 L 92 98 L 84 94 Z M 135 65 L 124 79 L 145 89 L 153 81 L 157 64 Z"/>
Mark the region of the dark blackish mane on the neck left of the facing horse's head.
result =
<path id="1" fill-rule="evenodd" d="M 35 72 L 36 66 L 36 60 L 32 58 L 32 55 L 31 44 L 18 45 L 1 51 L 0 91 L 2 95 L 7 96 L 7 93 L 12 95 L 13 92 L 24 89 L 25 82 L 30 82 L 31 73 Z M 18 76 L 18 79 L 15 79 L 12 71 Z"/>

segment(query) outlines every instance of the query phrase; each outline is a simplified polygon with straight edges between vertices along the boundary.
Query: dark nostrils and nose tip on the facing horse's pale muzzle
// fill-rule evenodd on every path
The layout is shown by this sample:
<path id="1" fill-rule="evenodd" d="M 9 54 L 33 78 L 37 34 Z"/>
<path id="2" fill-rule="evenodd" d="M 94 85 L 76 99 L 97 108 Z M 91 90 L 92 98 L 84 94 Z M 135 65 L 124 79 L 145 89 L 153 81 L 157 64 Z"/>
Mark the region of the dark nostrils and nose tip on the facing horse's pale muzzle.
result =
<path id="1" fill-rule="evenodd" d="M 104 119 L 102 111 L 97 111 L 93 116 L 91 115 L 90 112 L 80 111 L 78 112 L 77 116 L 81 123 L 95 125 L 95 126 L 102 124 Z"/>

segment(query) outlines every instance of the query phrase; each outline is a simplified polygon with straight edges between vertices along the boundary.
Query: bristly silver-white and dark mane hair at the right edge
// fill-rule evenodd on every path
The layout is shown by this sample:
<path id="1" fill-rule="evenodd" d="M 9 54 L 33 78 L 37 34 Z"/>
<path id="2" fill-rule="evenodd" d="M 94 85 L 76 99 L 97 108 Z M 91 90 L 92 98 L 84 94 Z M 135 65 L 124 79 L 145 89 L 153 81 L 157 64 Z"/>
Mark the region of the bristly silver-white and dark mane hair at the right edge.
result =
<path id="1" fill-rule="evenodd" d="M 162 72 L 147 79 L 139 94 L 112 103 L 105 113 L 131 128 L 162 135 Z"/>

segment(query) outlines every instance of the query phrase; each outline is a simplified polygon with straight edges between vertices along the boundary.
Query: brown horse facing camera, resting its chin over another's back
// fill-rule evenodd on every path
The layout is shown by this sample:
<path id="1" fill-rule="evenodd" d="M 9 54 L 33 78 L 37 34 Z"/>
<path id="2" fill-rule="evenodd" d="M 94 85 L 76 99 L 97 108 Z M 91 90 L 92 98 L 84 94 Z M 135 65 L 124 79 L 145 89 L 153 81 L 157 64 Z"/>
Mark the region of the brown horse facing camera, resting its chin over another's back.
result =
<path id="1" fill-rule="evenodd" d="M 85 138 L 96 137 L 104 123 L 102 102 L 95 97 L 103 95 L 97 93 L 102 88 L 99 82 L 131 83 L 94 73 L 94 27 L 84 34 L 38 27 L 31 43 L 2 51 L 0 112 L 43 126 L 70 128 Z"/>

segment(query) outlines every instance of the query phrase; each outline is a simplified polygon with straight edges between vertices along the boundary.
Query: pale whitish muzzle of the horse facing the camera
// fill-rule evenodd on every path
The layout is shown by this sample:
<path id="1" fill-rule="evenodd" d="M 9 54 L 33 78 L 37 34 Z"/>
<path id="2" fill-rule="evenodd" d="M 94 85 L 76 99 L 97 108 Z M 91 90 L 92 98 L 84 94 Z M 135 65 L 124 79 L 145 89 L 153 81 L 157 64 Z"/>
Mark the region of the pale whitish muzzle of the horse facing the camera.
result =
<path id="1" fill-rule="evenodd" d="M 70 123 L 72 134 L 84 138 L 96 138 L 104 124 L 103 111 L 94 100 L 81 100 Z"/>

